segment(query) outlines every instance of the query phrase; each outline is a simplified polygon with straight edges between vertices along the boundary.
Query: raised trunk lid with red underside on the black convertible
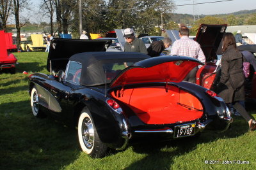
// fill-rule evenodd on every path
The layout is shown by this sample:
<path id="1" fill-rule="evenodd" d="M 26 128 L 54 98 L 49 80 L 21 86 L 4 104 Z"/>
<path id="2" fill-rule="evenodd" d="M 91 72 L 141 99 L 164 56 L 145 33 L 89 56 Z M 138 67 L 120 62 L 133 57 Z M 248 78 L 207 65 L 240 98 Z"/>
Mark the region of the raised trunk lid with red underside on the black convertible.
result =
<path id="1" fill-rule="evenodd" d="M 135 83 L 180 82 L 199 64 L 197 59 L 183 56 L 163 56 L 136 62 L 125 68 L 110 83 L 110 87 Z"/>

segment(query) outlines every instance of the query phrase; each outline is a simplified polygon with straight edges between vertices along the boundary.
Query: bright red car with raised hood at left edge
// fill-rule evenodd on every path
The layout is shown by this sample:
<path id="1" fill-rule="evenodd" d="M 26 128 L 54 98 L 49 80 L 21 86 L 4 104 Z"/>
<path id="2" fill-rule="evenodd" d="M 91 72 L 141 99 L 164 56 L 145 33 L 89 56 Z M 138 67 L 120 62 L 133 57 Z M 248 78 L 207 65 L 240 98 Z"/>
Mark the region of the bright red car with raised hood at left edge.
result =
<path id="1" fill-rule="evenodd" d="M 8 69 L 11 73 L 15 73 L 15 65 L 18 62 L 10 50 L 17 49 L 17 46 L 13 45 L 12 33 L 0 31 L 0 46 L 0 70 Z"/>

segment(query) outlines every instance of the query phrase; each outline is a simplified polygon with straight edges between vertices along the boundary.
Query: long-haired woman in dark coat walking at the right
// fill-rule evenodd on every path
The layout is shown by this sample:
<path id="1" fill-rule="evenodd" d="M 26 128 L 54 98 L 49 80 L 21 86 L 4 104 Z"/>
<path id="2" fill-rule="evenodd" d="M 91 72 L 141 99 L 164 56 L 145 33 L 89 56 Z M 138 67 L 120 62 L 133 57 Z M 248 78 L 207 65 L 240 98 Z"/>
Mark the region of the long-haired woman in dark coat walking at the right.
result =
<path id="1" fill-rule="evenodd" d="M 244 101 L 243 55 L 237 50 L 234 35 L 227 32 L 223 35 L 223 55 L 221 57 L 221 78 L 218 85 L 219 96 L 225 103 L 241 113 L 248 122 L 250 131 L 256 130 L 256 121 L 250 117 L 239 101 Z"/>

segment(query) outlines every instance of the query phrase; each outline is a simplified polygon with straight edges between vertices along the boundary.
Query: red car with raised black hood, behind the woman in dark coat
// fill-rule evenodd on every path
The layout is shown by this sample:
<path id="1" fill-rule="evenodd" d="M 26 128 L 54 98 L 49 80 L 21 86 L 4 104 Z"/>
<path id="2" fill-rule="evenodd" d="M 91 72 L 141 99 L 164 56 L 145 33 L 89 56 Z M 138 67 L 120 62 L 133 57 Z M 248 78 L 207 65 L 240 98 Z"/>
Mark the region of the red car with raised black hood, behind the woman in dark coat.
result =
<path id="1" fill-rule="evenodd" d="M 198 69 L 196 74 L 196 84 L 202 85 L 203 87 L 213 91 L 216 89 L 216 85 L 219 83 L 221 75 L 220 59 L 218 59 L 216 52 L 220 46 L 222 36 L 226 29 L 226 24 L 202 24 L 200 25 L 195 38 L 195 41 L 200 44 L 206 59 L 205 66 Z M 255 45 L 241 45 L 237 48 L 239 51 L 247 50 L 252 53 L 256 52 Z M 256 85 L 256 73 L 255 71 L 252 71 L 252 67 L 250 67 L 250 69 L 251 75 L 249 78 L 246 78 L 244 90 L 246 94 L 246 101 L 255 102 L 256 89 L 253 87 Z"/>

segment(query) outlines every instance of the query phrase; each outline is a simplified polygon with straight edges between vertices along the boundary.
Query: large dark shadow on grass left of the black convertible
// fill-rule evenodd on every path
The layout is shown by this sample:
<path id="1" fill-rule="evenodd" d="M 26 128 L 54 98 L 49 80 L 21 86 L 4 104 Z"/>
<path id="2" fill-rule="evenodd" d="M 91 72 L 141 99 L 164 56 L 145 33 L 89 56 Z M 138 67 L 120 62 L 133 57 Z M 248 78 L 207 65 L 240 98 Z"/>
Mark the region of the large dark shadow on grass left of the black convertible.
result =
<path id="1" fill-rule="evenodd" d="M 74 162 L 81 153 L 76 131 L 35 118 L 29 104 L 0 105 L 0 169 L 61 169 Z"/>

